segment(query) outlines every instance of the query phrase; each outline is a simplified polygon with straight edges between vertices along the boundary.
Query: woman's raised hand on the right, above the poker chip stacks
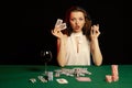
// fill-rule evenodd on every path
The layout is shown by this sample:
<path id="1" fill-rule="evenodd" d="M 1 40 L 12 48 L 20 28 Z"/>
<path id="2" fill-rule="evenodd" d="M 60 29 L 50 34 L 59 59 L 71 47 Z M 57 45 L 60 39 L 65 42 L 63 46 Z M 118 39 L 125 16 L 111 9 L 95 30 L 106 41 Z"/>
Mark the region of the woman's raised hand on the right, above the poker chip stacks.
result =
<path id="1" fill-rule="evenodd" d="M 99 35 L 100 35 L 99 24 L 92 25 L 91 26 L 91 31 L 90 31 L 90 37 L 91 37 L 91 40 L 98 38 Z"/>

